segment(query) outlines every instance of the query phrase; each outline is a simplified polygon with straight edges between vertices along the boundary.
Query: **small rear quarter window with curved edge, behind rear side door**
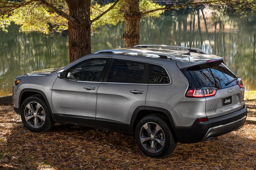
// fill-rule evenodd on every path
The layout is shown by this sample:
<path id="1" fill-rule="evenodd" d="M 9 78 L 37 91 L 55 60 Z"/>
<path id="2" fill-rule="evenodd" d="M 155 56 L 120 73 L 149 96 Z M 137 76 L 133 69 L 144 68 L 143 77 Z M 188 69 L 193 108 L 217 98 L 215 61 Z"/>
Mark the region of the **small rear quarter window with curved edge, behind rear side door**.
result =
<path id="1" fill-rule="evenodd" d="M 170 78 L 162 66 L 148 64 L 148 83 L 168 84 L 170 83 Z"/>

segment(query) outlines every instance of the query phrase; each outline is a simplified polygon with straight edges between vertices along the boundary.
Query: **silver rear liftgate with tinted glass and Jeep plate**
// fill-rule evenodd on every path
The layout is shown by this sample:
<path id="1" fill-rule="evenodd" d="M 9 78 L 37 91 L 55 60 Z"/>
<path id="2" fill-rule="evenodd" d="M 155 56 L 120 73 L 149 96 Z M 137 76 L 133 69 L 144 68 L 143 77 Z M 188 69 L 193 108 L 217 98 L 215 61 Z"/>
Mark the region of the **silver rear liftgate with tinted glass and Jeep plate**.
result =
<path id="1" fill-rule="evenodd" d="M 244 106 L 244 88 L 223 63 L 211 62 L 204 66 L 194 66 L 186 70 L 189 86 L 192 88 L 216 88 L 215 96 L 206 98 L 206 115 L 209 118 L 237 111 Z"/>

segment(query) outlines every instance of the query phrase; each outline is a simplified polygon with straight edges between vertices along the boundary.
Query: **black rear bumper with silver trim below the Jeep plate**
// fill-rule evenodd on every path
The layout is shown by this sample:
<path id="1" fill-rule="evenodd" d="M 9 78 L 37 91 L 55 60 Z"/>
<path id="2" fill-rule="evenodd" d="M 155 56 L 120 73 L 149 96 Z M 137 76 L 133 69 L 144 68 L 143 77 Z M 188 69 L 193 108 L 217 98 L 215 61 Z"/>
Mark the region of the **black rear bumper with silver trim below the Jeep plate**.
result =
<path id="1" fill-rule="evenodd" d="M 190 127 L 176 127 L 175 134 L 180 143 L 195 143 L 205 141 L 211 137 L 221 136 L 242 127 L 247 116 L 247 109 L 224 116 L 209 119 L 207 122 L 194 122 Z"/>

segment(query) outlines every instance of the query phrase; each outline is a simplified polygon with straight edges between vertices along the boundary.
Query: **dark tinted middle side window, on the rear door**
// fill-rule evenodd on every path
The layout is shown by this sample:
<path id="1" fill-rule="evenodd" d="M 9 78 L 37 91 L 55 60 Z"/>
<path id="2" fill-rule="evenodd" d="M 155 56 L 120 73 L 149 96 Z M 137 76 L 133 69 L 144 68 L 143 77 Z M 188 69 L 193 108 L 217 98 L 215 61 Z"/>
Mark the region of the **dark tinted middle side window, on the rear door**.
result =
<path id="1" fill-rule="evenodd" d="M 145 63 L 126 59 L 113 59 L 108 82 L 143 83 Z"/>

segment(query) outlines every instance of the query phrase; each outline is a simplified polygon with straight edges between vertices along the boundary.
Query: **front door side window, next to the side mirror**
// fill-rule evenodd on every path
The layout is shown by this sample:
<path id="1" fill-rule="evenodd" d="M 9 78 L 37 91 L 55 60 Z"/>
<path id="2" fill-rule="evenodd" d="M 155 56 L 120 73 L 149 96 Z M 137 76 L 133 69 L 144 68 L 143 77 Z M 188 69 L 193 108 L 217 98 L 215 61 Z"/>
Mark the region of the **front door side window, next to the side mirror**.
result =
<path id="1" fill-rule="evenodd" d="M 69 69 L 67 78 L 81 81 L 99 82 L 99 78 L 102 75 L 102 70 L 107 60 L 108 58 L 85 59 Z"/>

